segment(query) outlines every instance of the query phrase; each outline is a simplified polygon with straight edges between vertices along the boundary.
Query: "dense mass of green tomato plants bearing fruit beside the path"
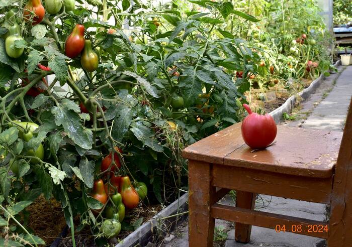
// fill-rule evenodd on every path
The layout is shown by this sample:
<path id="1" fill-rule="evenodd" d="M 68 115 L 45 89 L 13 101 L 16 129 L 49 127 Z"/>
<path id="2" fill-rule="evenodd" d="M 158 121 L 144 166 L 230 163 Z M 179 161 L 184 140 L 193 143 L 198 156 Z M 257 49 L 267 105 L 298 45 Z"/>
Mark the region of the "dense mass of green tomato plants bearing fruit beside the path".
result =
<path id="1" fill-rule="evenodd" d="M 306 13 L 301 1 L 288 6 Z M 182 150 L 242 120 L 254 83 L 326 69 L 317 17 L 296 25 L 280 1 L 257 1 L 257 13 L 244 2 L 48 0 L 47 16 L 40 0 L 1 2 L 0 48 L 16 49 L 0 56 L 1 205 L 53 197 L 72 235 L 90 227 L 107 242 L 119 231 L 114 214 L 187 190 Z M 7 45 L 16 23 L 23 40 Z"/>

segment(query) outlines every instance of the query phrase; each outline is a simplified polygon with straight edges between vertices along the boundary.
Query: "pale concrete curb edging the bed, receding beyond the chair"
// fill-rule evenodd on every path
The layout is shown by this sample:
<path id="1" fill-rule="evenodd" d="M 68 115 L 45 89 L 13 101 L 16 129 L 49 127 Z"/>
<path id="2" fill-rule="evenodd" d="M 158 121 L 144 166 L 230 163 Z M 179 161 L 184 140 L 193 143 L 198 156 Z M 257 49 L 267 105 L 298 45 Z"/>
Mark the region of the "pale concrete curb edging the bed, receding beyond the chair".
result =
<path id="1" fill-rule="evenodd" d="M 341 65 L 341 60 L 338 60 L 333 66 L 337 68 L 339 65 Z M 298 96 L 303 98 L 304 100 L 307 99 L 315 91 L 315 89 L 321 84 L 323 80 L 324 80 L 324 75 L 321 74 L 312 83 L 310 83 L 309 87 L 299 92 Z M 291 113 L 292 109 L 295 106 L 296 101 L 297 101 L 297 95 L 292 95 L 285 101 L 283 105 L 281 105 L 279 108 L 276 108 L 269 114 L 272 115 L 275 122 L 278 124 L 283 119 L 282 115 L 284 112 Z"/>

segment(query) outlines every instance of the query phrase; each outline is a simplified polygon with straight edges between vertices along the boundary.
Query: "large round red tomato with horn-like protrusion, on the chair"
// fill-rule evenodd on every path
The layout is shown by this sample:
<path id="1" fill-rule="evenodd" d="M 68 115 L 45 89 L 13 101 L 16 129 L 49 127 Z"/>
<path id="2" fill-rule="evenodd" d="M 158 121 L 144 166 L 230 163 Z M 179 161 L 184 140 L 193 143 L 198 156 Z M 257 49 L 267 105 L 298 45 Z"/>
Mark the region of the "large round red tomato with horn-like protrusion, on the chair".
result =
<path id="1" fill-rule="evenodd" d="M 268 147 L 276 138 L 277 127 L 274 118 L 268 113 L 260 115 L 253 113 L 247 104 L 243 107 L 248 111 L 241 127 L 244 142 L 252 149 Z"/>

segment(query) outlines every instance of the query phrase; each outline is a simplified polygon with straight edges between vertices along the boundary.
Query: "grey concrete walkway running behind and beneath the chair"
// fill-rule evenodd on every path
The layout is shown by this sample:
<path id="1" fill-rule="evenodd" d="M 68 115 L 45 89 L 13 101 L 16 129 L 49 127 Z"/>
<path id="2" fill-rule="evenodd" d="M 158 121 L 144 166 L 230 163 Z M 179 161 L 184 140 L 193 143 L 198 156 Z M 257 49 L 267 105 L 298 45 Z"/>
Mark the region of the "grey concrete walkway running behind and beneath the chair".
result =
<path id="1" fill-rule="evenodd" d="M 339 73 L 331 74 L 321 83 L 310 98 L 301 103 L 300 110 L 297 111 L 296 109 L 297 112 L 292 114 L 295 116 L 296 120 L 284 122 L 282 124 L 307 129 L 342 131 L 349 100 L 352 95 L 352 66 L 340 66 L 338 70 Z M 234 205 L 233 198 L 229 195 L 227 195 L 221 203 Z M 273 212 L 313 220 L 326 220 L 326 205 L 324 204 L 259 195 L 255 203 L 255 208 L 265 212 Z M 216 220 L 215 241 L 217 242 L 214 242 L 214 246 L 324 246 L 324 240 L 320 238 L 298 235 L 290 232 L 277 233 L 273 229 L 257 226 L 252 226 L 250 242 L 242 244 L 234 240 L 233 228 L 233 222 Z M 188 246 L 187 224 L 179 227 L 171 234 L 171 237 L 167 238 L 163 246 Z M 171 240 L 168 241 L 169 239 Z"/>

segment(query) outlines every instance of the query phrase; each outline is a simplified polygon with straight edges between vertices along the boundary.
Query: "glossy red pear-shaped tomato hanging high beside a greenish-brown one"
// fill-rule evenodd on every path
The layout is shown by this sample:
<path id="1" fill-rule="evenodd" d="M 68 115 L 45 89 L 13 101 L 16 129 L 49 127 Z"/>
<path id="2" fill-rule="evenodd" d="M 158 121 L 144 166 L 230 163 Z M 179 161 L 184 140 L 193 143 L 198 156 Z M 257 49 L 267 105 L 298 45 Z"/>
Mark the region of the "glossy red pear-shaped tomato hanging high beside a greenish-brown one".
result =
<path id="1" fill-rule="evenodd" d="M 77 24 L 65 44 L 65 54 L 69 58 L 77 57 L 84 48 L 84 26 Z"/>

